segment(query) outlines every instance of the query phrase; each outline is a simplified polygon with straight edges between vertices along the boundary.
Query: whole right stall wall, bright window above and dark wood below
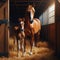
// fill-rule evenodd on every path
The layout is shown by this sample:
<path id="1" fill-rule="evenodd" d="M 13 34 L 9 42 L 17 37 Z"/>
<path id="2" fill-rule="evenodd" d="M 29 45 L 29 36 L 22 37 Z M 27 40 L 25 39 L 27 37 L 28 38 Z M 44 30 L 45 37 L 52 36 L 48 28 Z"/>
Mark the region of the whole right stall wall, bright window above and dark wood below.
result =
<path id="1" fill-rule="evenodd" d="M 41 39 L 48 41 L 52 49 L 56 49 L 56 27 L 55 27 L 55 1 L 51 1 L 45 6 L 45 11 L 41 14 L 42 30 Z M 53 7 L 53 8 L 52 8 Z"/>

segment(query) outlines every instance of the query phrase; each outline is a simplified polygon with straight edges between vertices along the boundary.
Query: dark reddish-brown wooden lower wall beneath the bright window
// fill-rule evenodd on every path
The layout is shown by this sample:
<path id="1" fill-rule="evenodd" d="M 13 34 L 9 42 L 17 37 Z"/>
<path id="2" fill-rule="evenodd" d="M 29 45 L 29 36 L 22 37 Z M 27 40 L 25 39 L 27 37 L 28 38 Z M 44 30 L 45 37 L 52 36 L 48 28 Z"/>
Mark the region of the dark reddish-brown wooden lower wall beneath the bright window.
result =
<path id="1" fill-rule="evenodd" d="M 41 39 L 43 41 L 47 41 L 52 47 L 52 49 L 56 49 L 56 34 L 55 34 L 55 23 L 42 26 L 41 30 Z"/>

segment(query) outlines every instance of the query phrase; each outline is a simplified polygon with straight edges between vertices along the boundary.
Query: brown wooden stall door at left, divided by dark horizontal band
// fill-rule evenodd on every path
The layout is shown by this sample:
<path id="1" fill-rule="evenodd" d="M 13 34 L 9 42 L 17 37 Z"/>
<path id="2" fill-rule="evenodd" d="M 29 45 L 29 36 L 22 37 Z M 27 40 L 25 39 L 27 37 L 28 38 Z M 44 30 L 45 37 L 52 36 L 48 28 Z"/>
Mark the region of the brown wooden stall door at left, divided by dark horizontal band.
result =
<path id="1" fill-rule="evenodd" d="M 0 7 L 0 20 L 8 20 L 8 2 L 5 2 Z M 8 26 L 7 24 L 0 25 L 0 56 L 8 53 Z"/>

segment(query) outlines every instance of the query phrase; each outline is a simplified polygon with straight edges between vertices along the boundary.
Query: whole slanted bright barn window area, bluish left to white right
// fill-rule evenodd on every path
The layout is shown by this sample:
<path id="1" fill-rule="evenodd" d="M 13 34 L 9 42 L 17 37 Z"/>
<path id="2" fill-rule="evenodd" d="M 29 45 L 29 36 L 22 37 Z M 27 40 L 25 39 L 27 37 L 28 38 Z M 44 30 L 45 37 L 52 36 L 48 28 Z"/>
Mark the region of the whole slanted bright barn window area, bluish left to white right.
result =
<path id="1" fill-rule="evenodd" d="M 55 4 L 50 5 L 39 17 L 42 25 L 55 23 Z"/>

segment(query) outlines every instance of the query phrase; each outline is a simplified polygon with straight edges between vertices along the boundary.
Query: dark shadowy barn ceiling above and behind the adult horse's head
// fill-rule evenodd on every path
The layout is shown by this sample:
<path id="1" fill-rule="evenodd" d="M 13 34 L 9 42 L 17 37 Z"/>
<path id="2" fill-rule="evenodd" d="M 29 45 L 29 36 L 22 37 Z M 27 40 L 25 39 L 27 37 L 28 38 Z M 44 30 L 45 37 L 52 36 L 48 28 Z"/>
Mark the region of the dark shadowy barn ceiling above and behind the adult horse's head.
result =
<path id="1" fill-rule="evenodd" d="M 35 17 L 38 18 L 53 0 L 10 0 L 10 19 L 14 22 L 18 17 L 24 17 L 29 4 L 35 7 Z M 14 19 L 14 20 L 13 20 Z"/>

